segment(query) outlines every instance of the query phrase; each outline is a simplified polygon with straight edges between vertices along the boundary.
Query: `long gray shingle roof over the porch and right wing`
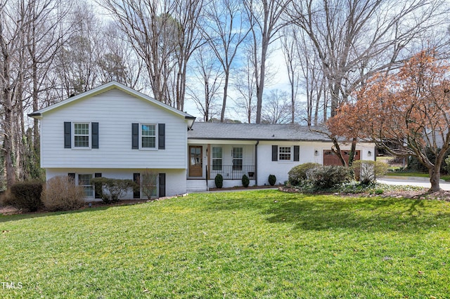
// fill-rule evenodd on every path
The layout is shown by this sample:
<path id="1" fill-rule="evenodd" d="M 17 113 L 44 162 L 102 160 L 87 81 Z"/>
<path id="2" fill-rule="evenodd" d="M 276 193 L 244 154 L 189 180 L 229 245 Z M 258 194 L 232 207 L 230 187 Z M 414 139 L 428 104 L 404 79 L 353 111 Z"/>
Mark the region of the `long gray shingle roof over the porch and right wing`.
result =
<path id="1" fill-rule="evenodd" d="M 316 127 L 322 130 L 323 127 Z M 313 128 L 314 130 L 314 128 Z M 195 122 L 188 139 L 330 141 L 298 124 L 224 124 Z"/>

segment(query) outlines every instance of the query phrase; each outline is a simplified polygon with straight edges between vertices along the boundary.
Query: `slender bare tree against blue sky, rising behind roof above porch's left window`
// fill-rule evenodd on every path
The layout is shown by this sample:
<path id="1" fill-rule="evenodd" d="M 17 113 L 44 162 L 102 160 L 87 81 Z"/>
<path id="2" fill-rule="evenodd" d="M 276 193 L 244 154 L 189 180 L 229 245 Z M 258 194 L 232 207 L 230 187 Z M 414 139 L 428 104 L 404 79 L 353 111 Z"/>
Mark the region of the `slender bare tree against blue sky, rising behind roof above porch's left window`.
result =
<path id="1" fill-rule="evenodd" d="M 244 28 L 242 11 L 243 6 L 240 1 L 220 0 L 211 1 L 206 12 L 206 18 L 209 21 L 207 24 L 210 25 L 205 27 L 203 34 L 224 70 L 224 94 L 220 113 L 221 122 L 225 119 L 231 67 L 238 55 L 240 45 L 250 32 L 248 28 Z"/>

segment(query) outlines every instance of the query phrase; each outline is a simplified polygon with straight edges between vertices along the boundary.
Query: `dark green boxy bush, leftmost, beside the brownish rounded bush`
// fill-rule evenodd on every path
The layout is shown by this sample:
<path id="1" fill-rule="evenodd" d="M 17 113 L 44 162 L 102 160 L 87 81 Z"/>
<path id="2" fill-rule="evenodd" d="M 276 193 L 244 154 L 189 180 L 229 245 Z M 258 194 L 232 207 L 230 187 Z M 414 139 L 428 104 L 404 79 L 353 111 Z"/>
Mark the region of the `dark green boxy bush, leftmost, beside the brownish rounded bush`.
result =
<path id="1" fill-rule="evenodd" d="M 42 182 L 18 182 L 11 186 L 11 198 L 8 204 L 15 208 L 25 208 L 34 212 L 42 206 Z"/>

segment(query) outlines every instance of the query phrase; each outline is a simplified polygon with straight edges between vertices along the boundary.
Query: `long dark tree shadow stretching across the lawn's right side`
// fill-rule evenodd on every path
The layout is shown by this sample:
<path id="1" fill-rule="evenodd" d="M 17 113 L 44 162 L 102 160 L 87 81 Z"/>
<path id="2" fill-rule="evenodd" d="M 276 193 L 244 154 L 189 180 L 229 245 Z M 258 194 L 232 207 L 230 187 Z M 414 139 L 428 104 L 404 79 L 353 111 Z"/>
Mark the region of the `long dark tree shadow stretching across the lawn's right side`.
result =
<path id="1" fill-rule="evenodd" d="M 248 199 L 217 199 L 217 210 L 254 210 L 272 223 L 293 223 L 299 230 L 359 229 L 373 232 L 416 232 L 450 222 L 450 212 L 439 211 L 427 199 L 335 197 L 328 195 L 266 194 Z M 438 204 L 438 202 L 436 201 Z M 438 204 L 439 205 L 439 204 Z"/>

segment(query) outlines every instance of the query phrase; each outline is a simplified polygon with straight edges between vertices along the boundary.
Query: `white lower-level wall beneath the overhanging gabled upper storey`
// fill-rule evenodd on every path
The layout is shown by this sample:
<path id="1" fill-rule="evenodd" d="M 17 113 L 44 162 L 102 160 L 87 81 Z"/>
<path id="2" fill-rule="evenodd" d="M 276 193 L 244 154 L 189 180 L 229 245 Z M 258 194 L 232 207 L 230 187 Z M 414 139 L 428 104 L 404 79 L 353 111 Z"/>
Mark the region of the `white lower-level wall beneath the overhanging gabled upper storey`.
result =
<path id="1" fill-rule="evenodd" d="M 185 169 L 149 169 L 155 173 L 166 174 L 166 196 L 175 196 L 186 193 L 186 170 Z M 57 175 L 68 175 L 68 173 L 92 174 L 101 173 L 104 178 L 120 178 L 133 180 L 133 173 L 143 173 L 146 169 L 110 169 L 110 168 L 47 168 L 46 179 L 49 180 Z M 123 199 L 133 199 L 130 190 Z"/>

